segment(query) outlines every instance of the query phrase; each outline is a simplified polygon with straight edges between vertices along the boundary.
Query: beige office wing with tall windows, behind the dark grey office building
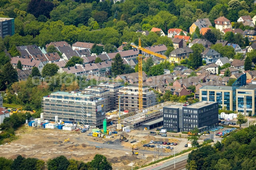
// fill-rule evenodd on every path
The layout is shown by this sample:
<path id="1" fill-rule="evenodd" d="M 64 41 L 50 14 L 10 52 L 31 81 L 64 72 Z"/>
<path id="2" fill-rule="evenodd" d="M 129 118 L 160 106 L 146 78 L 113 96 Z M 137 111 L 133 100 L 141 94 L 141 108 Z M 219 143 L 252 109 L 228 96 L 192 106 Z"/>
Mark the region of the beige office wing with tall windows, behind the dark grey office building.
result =
<path id="1" fill-rule="evenodd" d="M 203 86 L 199 89 L 199 101 L 218 102 L 222 109 L 233 110 L 231 86 Z"/>

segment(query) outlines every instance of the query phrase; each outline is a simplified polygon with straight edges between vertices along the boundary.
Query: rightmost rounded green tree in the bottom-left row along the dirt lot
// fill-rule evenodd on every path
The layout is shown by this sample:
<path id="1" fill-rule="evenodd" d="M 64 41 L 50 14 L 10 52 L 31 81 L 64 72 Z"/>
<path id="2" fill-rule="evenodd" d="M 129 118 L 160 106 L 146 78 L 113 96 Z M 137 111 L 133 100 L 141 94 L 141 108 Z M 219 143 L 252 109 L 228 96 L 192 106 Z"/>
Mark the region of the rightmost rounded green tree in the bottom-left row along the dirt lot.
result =
<path id="1" fill-rule="evenodd" d="M 90 167 L 93 167 L 93 170 L 112 170 L 112 166 L 107 161 L 107 158 L 100 154 L 94 156 L 93 160 L 90 162 Z"/>

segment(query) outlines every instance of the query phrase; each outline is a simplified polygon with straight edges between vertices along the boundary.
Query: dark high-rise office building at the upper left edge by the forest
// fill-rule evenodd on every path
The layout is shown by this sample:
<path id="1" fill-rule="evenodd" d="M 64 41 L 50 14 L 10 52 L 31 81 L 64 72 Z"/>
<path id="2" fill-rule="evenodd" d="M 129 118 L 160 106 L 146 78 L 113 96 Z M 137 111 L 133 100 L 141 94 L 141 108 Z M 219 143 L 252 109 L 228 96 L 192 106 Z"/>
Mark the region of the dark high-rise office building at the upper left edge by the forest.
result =
<path id="1" fill-rule="evenodd" d="M 0 18 L 0 37 L 12 36 L 14 33 L 14 18 Z"/>

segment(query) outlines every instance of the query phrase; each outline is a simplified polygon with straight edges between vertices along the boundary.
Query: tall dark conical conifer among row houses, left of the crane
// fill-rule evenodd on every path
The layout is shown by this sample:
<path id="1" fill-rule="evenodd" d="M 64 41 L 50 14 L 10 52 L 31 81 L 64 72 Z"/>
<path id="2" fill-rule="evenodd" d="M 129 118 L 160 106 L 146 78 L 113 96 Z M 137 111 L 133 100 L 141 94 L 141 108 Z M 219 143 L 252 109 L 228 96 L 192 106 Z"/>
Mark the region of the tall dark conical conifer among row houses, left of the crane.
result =
<path id="1" fill-rule="evenodd" d="M 116 75 L 120 75 L 120 74 L 123 74 L 124 73 L 124 69 L 125 69 L 125 66 L 124 66 L 124 62 L 123 62 L 123 59 L 121 57 L 121 55 L 119 53 L 117 53 L 115 55 L 115 57 L 113 58 L 113 61 L 114 63 L 111 63 L 111 71 L 112 71 L 112 74 L 114 76 Z"/>

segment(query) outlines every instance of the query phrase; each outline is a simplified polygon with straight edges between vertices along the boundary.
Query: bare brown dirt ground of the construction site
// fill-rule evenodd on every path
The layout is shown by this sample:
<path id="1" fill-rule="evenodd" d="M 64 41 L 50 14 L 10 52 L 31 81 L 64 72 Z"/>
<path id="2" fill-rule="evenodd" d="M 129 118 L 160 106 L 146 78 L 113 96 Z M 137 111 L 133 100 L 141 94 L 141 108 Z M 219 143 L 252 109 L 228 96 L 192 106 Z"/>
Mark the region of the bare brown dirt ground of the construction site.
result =
<path id="1" fill-rule="evenodd" d="M 59 155 L 65 155 L 68 159 L 88 162 L 93 159 L 95 154 L 103 154 L 112 163 L 113 169 L 131 169 L 131 161 L 133 161 L 133 166 L 141 166 L 151 162 L 154 157 L 154 148 L 142 147 L 143 144 L 147 144 L 151 140 L 182 142 L 177 139 L 158 138 L 158 136 L 156 138 L 145 134 L 142 137 L 124 132 L 123 134 L 129 139 L 129 142 L 119 142 L 120 136 L 113 134 L 111 139 L 95 138 L 87 136 L 89 132 L 90 130 L 80 133 L 79 131 L 32 128 L 24 125 L 16 131 L 18 140 L 0 146 L 0 156 L 14 159 L 17 155 L 22 155 L 46 161 Z M 117 135 L 120 133 L 118 132 Z M 70 138 L 70 143 L 64 143 L 67 138 Z M 137 142 L 130 143 L 134 139 Z M 135 150 L 135 152 L 139 152 L 138 155 L 132 155 L 132 145 L 138 148 Z M 180 145 L 180 147 L 182 146 Z M 163 156 L 170 154 L 172 154 L 171 150 L 163 149 Z"/>

